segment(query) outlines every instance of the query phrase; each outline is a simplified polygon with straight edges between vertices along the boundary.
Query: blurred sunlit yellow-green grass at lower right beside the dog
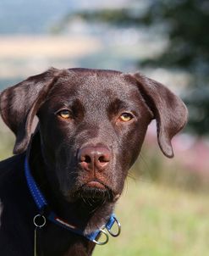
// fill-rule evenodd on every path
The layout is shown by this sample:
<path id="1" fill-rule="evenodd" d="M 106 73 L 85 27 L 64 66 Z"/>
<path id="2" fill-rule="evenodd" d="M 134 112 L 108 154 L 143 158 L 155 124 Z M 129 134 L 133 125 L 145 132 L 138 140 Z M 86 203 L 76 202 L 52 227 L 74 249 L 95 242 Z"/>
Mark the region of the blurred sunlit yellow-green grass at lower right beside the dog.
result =
<path id="1" fill-rule="evenodd" d="M 195 194 L 145 181 L 128 181 L 116 213 L 122 233 L 100 256 L 198 256 L 208 254 L 209 203 Z"/>

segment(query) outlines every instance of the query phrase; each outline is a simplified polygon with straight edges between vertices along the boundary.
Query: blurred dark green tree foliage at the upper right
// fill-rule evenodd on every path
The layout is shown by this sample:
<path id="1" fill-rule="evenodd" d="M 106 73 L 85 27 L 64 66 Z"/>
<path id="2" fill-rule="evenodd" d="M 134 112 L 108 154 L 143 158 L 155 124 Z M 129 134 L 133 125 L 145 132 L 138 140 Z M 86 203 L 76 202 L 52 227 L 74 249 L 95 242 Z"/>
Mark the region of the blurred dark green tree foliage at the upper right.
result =
<path id="1" fill-rule="evenodd" d="M 129 1 L 126 8 L 87 10 L 69 14 L 89 22 L 105 22 L 115 27 L 153 28 L 158 36 L 168 38 L 161 54 L 144 61 L 140 67 L 184 70 L 190 75 L 190 88 L 184 101 L 190 111 L 189 129 L 198 135 L 209 131 L 209 2 L 207 0 L 151 0 L 146 8 L 140 1 Z"/>

